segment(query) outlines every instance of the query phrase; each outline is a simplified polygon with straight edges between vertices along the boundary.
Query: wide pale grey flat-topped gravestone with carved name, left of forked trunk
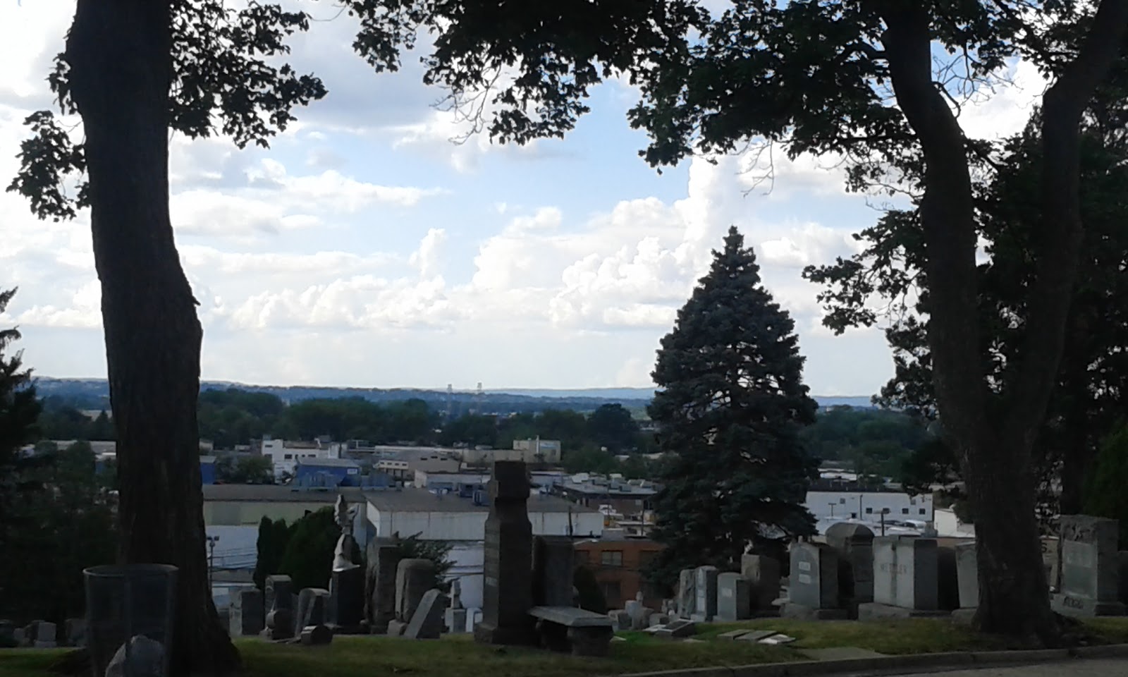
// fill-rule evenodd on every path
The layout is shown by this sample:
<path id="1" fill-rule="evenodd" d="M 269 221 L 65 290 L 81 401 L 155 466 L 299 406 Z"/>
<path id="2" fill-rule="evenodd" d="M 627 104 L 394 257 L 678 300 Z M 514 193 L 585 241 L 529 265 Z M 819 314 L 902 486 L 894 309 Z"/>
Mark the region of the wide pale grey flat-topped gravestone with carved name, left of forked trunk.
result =
<path id="1" fill-rule="evenodd" d="M 873 539 L 873 601 L 858 618 L 942 616 L 936 540 L 916 536 Z"/>

